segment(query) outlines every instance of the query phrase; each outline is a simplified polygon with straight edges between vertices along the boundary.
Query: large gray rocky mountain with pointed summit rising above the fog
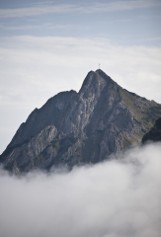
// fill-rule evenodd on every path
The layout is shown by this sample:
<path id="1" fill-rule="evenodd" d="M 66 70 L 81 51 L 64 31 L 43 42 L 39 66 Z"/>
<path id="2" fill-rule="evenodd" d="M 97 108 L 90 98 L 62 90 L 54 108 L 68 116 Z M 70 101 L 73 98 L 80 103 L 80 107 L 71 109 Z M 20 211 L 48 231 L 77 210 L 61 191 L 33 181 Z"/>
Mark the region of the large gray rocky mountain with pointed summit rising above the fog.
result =
<path id="1" fill-rule="evenodd" d="M 35 109 L 0 160 L 15 173 L 97 163 L 140 143 L 160 116 L 161 105 L 91 71 L 78 93 L 59 93 Z"/>

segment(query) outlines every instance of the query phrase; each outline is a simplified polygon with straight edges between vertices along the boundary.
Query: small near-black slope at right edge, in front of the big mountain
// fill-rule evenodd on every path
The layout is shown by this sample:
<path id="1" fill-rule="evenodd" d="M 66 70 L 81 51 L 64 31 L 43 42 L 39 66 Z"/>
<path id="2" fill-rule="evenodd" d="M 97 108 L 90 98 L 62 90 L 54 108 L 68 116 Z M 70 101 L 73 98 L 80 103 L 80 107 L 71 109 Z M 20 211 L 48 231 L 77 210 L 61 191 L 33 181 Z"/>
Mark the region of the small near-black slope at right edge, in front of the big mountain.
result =
<path id="1" fill-rule="evenodd" d="M 147 132 L 142 139 L 142 143 L 146 142 L 159 142 L 161 141 L 161 118 L 157 119 L 154 126 Z"/>

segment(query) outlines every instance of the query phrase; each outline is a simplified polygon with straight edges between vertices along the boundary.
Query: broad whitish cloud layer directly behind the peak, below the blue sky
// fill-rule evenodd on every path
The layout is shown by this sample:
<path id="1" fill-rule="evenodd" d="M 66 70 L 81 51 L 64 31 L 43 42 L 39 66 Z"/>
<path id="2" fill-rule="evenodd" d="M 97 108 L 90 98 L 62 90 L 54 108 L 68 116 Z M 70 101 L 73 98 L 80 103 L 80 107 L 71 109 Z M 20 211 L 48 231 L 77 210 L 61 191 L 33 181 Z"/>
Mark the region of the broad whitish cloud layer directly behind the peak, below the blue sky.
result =
<path id="1" fill-rule="evenodd" d="M 102 38 L 23 36 L 2 38 L 0 52 L 1 151 L 35 107 L 60 91 L 78 91 L 99 63 L 124 88 L 161 103 L 160 47 L 120 46 Z"/>

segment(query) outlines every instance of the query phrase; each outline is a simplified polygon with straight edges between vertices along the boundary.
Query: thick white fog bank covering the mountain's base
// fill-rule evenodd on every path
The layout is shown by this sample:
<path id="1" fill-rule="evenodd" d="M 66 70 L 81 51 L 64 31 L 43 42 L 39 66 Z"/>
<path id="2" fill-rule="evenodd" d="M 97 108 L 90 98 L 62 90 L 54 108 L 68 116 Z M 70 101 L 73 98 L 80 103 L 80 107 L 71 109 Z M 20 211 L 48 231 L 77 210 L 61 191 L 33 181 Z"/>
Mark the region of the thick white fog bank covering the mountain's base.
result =
<path id="1" fill-rule="evenodd" d="M 159 237 L 161 144 L 70 173 L 0 173 L 0 235 Z"/>

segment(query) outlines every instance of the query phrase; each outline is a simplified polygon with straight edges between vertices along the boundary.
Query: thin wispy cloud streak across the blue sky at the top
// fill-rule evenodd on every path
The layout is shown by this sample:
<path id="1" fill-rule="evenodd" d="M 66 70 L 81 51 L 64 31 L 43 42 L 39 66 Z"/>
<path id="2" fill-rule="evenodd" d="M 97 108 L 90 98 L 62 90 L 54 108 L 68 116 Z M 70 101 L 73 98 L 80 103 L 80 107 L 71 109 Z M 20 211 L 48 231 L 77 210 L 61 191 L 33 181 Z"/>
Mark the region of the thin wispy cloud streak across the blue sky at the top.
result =
<path id="1" fill-rule="evenodd" d="M 112 1 L 107 3 L 82 3 L 82 4 L 49 4 L 44 3 L 38 6 L 22 7 L 22 8 L 4 8 L 0 9 L 0 18 L 18 18 L 38 16 L 45 14 L 64 14 L 64 13 L 105 13 L 130 11 L 134 9 L 143 9 L 161 6 L 159 1 Z"/>

